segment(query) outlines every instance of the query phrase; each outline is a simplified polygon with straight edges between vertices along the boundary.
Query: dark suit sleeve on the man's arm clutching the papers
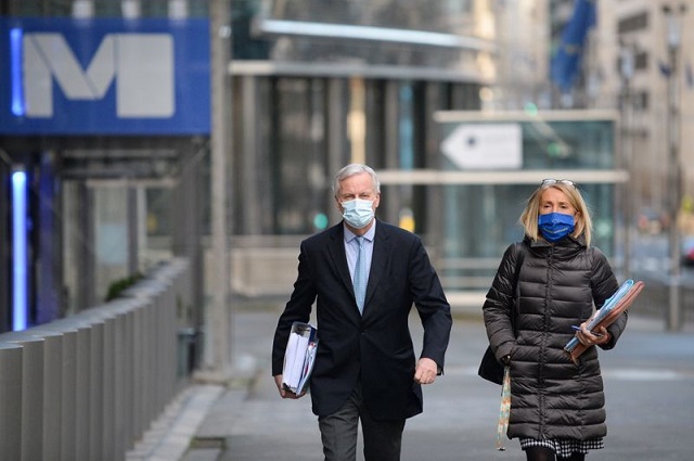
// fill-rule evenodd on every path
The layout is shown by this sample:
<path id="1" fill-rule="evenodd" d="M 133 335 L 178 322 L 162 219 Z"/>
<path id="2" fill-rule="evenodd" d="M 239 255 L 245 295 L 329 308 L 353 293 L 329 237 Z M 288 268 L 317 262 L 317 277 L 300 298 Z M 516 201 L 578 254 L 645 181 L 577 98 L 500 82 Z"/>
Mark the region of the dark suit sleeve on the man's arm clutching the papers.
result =
<path id="1" fill-rule="evenodd" d="M 272 342 L 272 375 L 282 374 L 284 363 L 284 349 L 290 337 L 292 324 L 295 321 L 308 322 L 311 316 L 311 306 L 316 300 L 316 286 L 311 276 L 311 264 L 308 256 L 306 242 L 301 243 L 299 253 L 298 274 L 294 282 L 294 291 L 284 310 L 278 320 Z"/>

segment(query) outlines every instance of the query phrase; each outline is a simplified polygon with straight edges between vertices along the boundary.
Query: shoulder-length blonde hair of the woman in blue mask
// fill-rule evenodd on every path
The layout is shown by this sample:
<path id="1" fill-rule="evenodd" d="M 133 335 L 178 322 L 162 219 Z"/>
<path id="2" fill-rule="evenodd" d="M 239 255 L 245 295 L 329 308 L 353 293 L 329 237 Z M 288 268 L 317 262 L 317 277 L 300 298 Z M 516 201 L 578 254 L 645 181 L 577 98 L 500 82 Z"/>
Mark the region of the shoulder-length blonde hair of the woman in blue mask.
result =
<path id="1" fill-rule="evenodd" d="M 540 236 L 538 229 L 538 216 L 540 216 L 540 202 L 542 201 L 542 193 L 549 188 L 557 189 L 568 197 L 568 202 L 576 209 L 576 228 L 571 233 L 574 239 L 577 239 L 581 234 L 586 239 L 586 245 L 590 246 L 592 233 L 593 233 L 593 220 L 590 217 L 590 210 L 583 200 L 581 193 L 575 185 L 564 184 L 556 182 L 552 185 L 540 185 L 528 199 L 528 204 L 520 214 L 518 222 L 523 226 L 525 234 L 528 235 L 534 242 Z"/>

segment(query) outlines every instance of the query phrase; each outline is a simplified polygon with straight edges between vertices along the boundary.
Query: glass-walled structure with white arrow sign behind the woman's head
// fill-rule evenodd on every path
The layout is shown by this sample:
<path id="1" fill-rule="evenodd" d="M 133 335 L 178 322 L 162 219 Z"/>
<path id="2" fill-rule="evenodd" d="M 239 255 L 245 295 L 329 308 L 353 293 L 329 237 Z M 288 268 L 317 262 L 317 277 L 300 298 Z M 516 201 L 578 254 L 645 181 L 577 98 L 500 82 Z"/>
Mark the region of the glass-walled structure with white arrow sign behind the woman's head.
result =
<path id="1" fill-rule="evenodd" d="M 591 210 L 592 244 L 609 256 L 619 248 L 616 184 L 626 176 L 615 165 L 616 114 L 612 112 L 442 113 L 442 136 L 470 127 L 464 143 L 480 141 L 475 128 L 514 127 L 519 131 L 514 168 L 461 168 L 447 157 L 441 270 L 450 290 L 486 290 L 511 242 L 523 239 L 518 223 L 528 197 L 542 179 L 570 179 Z M 477 135 L 477 136 L 476 136 Z M 503 135 L 503 132 L 500 132 Z M 513 148 L 512 145 L 509 146 Z M 463 146 L 461 146 L 463 149 Z M 481 149 L 478 146 L 478 149 Z M 463 155 L 472 155 L 463 149 Z"/>

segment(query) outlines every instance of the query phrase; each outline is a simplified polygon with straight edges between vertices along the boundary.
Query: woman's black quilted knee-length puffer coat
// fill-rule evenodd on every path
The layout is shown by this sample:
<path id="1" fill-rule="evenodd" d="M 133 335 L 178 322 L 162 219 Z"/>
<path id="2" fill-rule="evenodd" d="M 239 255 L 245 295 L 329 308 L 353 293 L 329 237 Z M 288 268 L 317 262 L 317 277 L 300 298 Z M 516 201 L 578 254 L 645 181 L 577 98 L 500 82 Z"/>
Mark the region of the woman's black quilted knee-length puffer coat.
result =
<path id="1" fill-rule="evenodd" d="M 518 251 L 516 333 L 510 313 Z M 574 438 L 606 434 L 605 396 L 595 347 L 575 364 L 564 351 L 571 325 L 588 319 L 618 289 L 603 253 L 566 238 L 550 244 L 514 243 L 505 251 L 483 307 L 487 335 L 498 359 L 511 356 L 509 438 Z M 613 348 L 627 324 L 625 312 L 608 331 Z"/>

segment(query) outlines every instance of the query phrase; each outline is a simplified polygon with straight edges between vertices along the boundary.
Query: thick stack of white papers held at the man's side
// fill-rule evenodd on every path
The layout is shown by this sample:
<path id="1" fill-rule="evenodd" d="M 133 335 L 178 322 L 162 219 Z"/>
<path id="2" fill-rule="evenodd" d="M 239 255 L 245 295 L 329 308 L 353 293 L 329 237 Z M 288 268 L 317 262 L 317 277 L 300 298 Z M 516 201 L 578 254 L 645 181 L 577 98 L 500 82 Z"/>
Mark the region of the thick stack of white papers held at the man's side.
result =
<path id="1" fill-rule="evenodd" d="M 284 351 L 282 384 L 294 394 L 301 394 L 308 386 L 313 370 L 318 330 L 310 323 L 294 322 Z"/>

